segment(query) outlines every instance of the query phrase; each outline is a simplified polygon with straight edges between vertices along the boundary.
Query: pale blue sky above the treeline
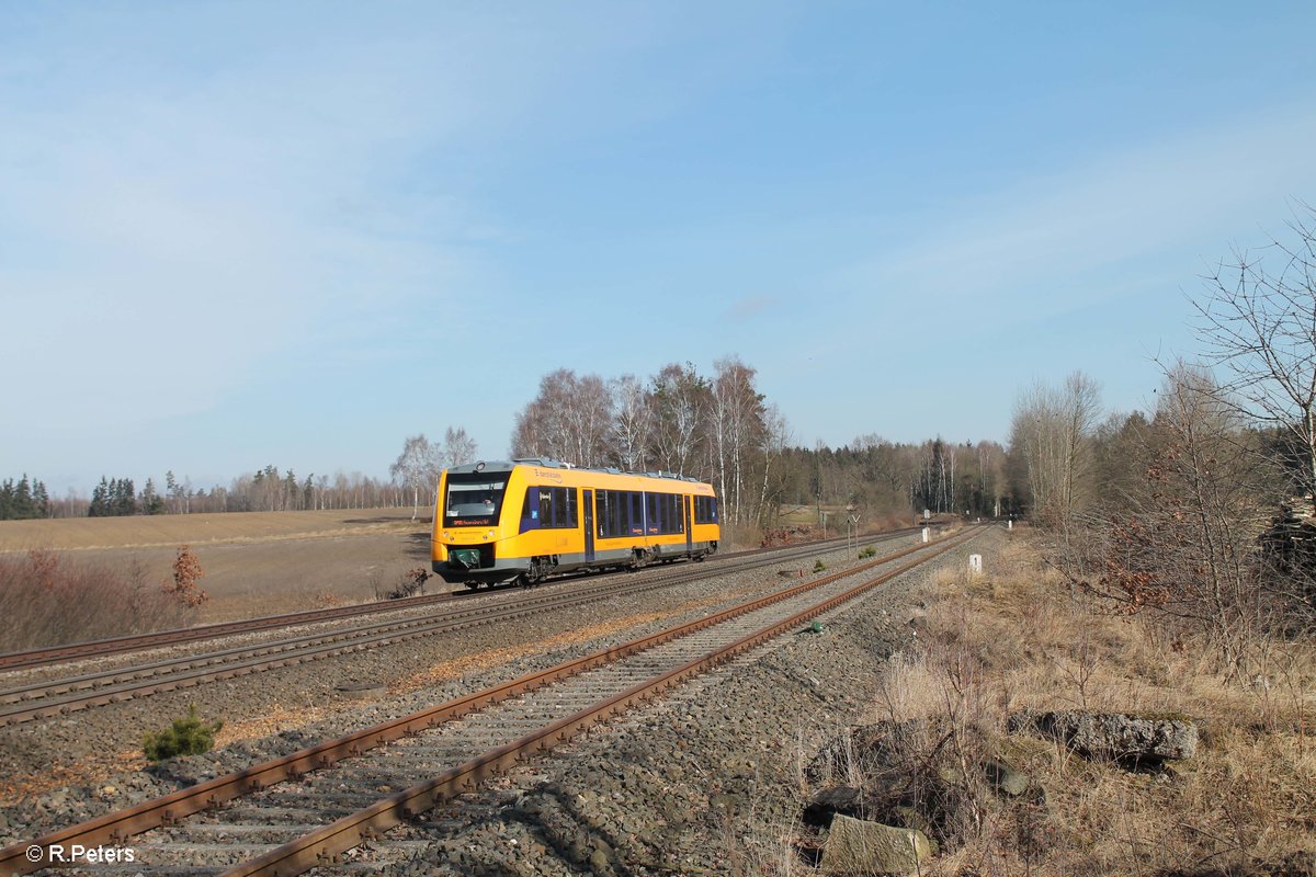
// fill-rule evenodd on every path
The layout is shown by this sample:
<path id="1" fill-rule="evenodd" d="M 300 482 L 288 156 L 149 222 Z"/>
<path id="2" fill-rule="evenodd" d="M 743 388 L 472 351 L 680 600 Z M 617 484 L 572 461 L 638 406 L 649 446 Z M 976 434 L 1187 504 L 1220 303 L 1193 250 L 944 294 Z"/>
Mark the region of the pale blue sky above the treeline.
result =
<path id="1" fill-rule="evenodd" d="M 1309 3 L 0 0 L 0 477 L 488 458 L 738 355 L 796 440 L 1144 405 L 1316 202 Z"/>

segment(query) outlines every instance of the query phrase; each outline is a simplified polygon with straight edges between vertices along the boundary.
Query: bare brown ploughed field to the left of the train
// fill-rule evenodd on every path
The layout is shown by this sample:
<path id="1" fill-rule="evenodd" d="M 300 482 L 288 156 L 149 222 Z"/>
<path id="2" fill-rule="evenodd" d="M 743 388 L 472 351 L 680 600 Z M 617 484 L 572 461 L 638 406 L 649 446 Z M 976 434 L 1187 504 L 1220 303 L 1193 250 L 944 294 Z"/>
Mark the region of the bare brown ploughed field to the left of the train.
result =
<path id="1" fill-rule="evenodd" d="M 0 556 L 53 551 L 146 582 L 171 576 L 183 544 L 205 572 L 196 621 L 208 623 L 375 600 L 376 586 L 429 569 L 429 518 L 338 509 L 0 521 Z"/>

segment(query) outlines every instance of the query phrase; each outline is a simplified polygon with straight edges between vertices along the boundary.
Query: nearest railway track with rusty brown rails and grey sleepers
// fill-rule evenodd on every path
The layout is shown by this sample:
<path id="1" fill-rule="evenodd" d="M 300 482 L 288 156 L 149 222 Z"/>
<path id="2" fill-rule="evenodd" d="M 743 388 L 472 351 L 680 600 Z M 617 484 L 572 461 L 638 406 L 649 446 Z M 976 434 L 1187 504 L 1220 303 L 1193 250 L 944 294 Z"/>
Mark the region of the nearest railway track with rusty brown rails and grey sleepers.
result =
<path id="1" fill-rule="evenodd" d="M 0 874 L 49 865 L 54 849 L 126 847 L 130 839 L 132 863 L 96 865 L 95 873 L 222 872 L 233 877 L 324 870 L 342 852 L 379 839 L 520 760 L 797 628 L 974 535 L 916 544 L 857 569 L 16 844 L 0 851 Z M 867 577 L 879 567 L 887 568 Z M 854 584 L 855 577 L 863 580 Z M 429 778 L 416 782 L 416 777 Z M 318 827 L 308 831 L 309 826 Z M 384 845 L 400 856 L 408 851 L 405 840 Z"/>

